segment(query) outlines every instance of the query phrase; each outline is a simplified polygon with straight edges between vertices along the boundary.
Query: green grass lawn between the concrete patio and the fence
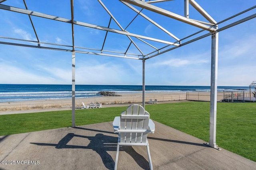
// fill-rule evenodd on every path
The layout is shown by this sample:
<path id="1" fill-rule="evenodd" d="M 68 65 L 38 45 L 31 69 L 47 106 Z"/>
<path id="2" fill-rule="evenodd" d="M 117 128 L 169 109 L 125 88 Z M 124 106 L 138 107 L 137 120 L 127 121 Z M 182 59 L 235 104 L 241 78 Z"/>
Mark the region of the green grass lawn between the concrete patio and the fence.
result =
<path id="1" fill-rule="evenodd" d="M 113 121 L 127 107 L 76 110 L 76 125 Z M 209 141 L 210 102 L 146 105 L 150 118 Z M 72 111 L 0 115 L 0 136 L 72 125 Z M 256 162 L 256 103 L 218 103 L 218 146 Z"/>

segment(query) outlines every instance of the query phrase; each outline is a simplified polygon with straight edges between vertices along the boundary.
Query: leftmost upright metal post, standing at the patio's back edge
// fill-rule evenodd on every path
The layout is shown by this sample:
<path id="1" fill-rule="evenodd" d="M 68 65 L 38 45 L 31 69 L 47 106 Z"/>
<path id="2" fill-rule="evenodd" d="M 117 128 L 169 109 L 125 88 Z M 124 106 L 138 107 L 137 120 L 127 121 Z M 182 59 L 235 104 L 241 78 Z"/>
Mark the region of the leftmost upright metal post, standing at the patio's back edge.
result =
<path id="1" fill-rule="evenodd" d="M 75 83 L 75 61 L 76 55 L 75 52 L 72 52 L 72 127 L 76 127 L 75 123 L 75 90 L 76 90 L 76 83 Z"/>

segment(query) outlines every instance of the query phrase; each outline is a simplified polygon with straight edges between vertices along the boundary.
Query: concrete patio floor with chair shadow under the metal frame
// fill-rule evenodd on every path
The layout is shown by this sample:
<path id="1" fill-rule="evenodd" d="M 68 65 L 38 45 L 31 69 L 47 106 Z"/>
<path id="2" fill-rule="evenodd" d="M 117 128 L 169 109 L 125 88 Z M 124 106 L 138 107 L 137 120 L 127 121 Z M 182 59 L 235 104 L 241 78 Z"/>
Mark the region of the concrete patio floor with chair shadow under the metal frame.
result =
<path id="1" fill-rule="evenodd" d="M 156 131 L 148 135 L 148 141 L 156 170 L 256 169 L 254 161 L 212 149 L 205 141 L 154 123 Z M 1 136 L 0 169 L 114 169 L 116 142 L 112 122 Z M 149 169 L 146 147 L 121 147 L 118 169 Z"/>

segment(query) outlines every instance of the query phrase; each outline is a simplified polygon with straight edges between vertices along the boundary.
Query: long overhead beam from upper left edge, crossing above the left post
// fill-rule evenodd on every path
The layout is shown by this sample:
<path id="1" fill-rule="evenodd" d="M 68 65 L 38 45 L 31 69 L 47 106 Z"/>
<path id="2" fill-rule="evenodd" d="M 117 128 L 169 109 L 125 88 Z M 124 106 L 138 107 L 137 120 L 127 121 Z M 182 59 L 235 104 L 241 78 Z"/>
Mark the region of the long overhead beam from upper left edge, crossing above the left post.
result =
<path id="1" fill-rule="evenodd" d="M 43 14 L 43 13 L 40 13 L 40 12 L 34 12 L 34 11 L 30 11 L 30 10 L 24 10 L 24 9 L 12 7 L 12 6 L 6 6 L 6 5 L 3 5 L 3 4 L 0 4 L 0 9 L 12 11 L 12 12 L 19 12 L 19 13 L 22 13 L 22 14 L 27 14 L 27 15 L 32 15 L 32 16 L 37 16 L 37 17 L 42 17 L 42 18 L 47 18 L 47 19 L 50 19 L 50 20 L 62 21 L 62 22 L 66 22 L 66 23 L 71 23 L 72 22 L 70 19 L 61 18 L 61 17 L 57 17 L 57 16 L 51 16 L 51 15 L 48 15 L 48 14 Z M 122 35 L 130 35 L 132 37 L 148 39 L 148 40 L 156 41 L 156 42 L 159 42 L 159 43 L 165 43 L 165 44 L 179 46 L 179 44 L 172 43 L 172 42 L 169 42 L 169 41 L 164 41 L 164 40 L 160 40 L 160 39 L 156 39 L 156 38 L 146 37 L 146 36 L 138 35 L 138 34 L 134 34 L 134 33 L 128 33 L 126 31 L 120 31 L 120 30 L 117 30 L 117 29 L 107 28 L 107 27 L 103 27 L 103 26 L 100 26 L 100 25 L 94 25 L 94 24 L 80 22 L 80 21 L 74 21 L 74 24 L 85 26 L 85 27 L 90 27 L 90 28 L 94 28 L 94 29 L 100 29 L 100 30 L 103 30 L 103 31 L 110 31 L 110 32 L 113 32 L 113 33 L 119 33 L 119 34 L 122 34 Z"/>

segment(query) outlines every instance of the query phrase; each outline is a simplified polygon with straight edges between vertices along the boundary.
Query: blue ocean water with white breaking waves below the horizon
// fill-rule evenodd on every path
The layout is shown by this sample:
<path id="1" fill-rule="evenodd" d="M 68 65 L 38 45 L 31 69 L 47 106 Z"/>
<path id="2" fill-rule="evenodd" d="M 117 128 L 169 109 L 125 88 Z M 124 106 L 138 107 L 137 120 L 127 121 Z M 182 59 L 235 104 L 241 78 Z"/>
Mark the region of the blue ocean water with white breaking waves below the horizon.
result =
<path id="1" fill-rule="evenodd" d="M 210 92 L 210 86 L 146 86 L 147 92 Z M 248 91 L 248 87 L 218 86 L 219 92 Z M 142 86 L 134 85 L 76 85 L 76 98 L 100 97 L 100 91 L 141 93 Z M 72 85 L 0 84 L 0 102 L 28 100 L 71 99 Z"/>

